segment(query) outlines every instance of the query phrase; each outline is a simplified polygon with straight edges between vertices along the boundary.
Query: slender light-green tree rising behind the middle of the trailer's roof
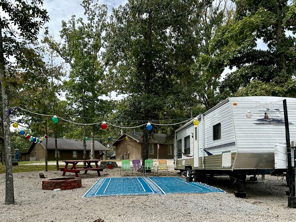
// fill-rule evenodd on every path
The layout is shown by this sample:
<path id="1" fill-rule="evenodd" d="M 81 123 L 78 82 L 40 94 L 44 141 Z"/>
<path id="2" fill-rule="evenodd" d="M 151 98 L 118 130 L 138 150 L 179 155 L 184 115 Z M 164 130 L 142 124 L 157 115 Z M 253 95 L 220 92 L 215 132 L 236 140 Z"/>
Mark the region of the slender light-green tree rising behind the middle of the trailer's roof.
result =
<path id="1" fill-rule="evenodd" d="M 203 1 L 201 7 L 196 28 L 201 32 L 202 41 L 200 54 L 195 57 L 192 66 L 193 81 L 189 90 L 197 96 L 198 104 L 203 104 L 208 110 L 224 99 L 219 87 L 225 64 L 221 60 L 221 48 L 215 47 L 212 40 L 223 25 L 229 24 L 234 9 L 227 0 Z"/>

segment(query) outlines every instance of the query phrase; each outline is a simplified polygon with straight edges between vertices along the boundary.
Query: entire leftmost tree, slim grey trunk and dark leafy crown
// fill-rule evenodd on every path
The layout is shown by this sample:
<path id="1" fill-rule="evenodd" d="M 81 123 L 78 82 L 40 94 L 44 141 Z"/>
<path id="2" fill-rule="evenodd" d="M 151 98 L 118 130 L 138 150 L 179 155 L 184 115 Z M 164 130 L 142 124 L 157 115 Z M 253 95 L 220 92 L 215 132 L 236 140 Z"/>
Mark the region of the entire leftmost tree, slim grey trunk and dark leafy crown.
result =
<path id="1" fill-rule="evenodd" d="M 12 160 L 9 136 L 9 114 L 7 84 L 13 78 L 15 70 L 26 70 L 32 68 L 34 62 L 34 52 L 30 50 L 27 41 L 33 44 L 37 40 L 39 29 L 44 22 L 49 20 L 47 12 L 42 9 L 42 0 L 22 1 L 2 0 L 0 8 L 7 13 L 8 17 L 0 17 L 0 80 L 3 104 L 3 127 L 6 153 L 6 195 L 5 204 L 13 204 L 14 189 L 12 177 Z M 14 26 L 17 26 L 15 29 Z M 19 32 L 17 31 L 19 30 Z M 14 58 L 14 61 L 9 60 Z M 28 80 L 32 80 L 34 73 L 27 73 Z"/>

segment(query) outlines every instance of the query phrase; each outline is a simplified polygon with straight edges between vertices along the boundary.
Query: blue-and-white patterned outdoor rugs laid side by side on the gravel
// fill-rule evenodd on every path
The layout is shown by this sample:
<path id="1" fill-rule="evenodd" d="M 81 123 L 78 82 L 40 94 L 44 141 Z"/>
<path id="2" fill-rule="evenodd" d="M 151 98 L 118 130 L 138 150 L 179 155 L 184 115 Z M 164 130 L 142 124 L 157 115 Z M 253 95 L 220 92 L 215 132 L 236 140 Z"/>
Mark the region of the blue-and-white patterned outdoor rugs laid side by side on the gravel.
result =
<path id="1" fill-rule="evenodd" d="M 179 177 L 111 177 L 100 178 L 83 197 L 212 192 L 226 193 L 199 182 L 188 183 Z"/>

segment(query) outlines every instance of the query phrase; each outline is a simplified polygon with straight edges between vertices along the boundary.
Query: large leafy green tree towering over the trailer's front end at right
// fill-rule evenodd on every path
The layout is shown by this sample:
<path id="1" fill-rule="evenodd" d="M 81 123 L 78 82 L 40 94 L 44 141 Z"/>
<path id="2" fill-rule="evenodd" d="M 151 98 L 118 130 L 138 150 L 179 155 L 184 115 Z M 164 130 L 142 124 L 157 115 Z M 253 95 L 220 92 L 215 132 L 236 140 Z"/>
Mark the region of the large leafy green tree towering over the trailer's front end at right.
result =
<path id="1" fill-rule="evenodd" d="M 221 28 L 215 39 L 215 45 L 223 48 L 223 62 L 236 68 L 226 76 L 221 92 L 229 95 L 243 89 L 240 95 L 291 95 L 296 38 L 288 33 L 295 34 L 295 1 L 234 2 L 233 21 Z M 266 49 L 258 47 L 258 41 Z"/>

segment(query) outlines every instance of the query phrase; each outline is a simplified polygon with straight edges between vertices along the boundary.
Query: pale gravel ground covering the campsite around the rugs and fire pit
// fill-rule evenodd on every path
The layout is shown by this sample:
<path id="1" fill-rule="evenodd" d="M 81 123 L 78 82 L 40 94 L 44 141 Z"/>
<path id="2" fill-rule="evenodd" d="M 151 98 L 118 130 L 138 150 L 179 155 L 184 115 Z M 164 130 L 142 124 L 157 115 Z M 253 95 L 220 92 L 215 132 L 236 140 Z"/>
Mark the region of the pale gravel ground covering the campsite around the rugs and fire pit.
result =
<path id="1" fill-rule="evenodd" d="M 169 161 L 168 176 L 178 176 Z M 60 171 L 44 172 L 48 178 L 62 177 Z M 229 178 L 208 179 L 209 185 L 227 194 L 168 194 L 81 198 L 97 181 L 96 172 L 81 174 L 82 187 L 65 191 L 41 189 L 40 172 L 14 173 L 15 205 L 4 205 L 5 174 L 0 174 L 0 221 L 66 222 L 103 218 L 119 221 L 295 221 L 296 209 L 287 208 L 286 181 L 247 184 L 247 199 L 234 197 Z M 120 169 L 106 169 L 102 177 L 118 177 Z M 73 177 L 67 173 L 67 177 Z"/>

